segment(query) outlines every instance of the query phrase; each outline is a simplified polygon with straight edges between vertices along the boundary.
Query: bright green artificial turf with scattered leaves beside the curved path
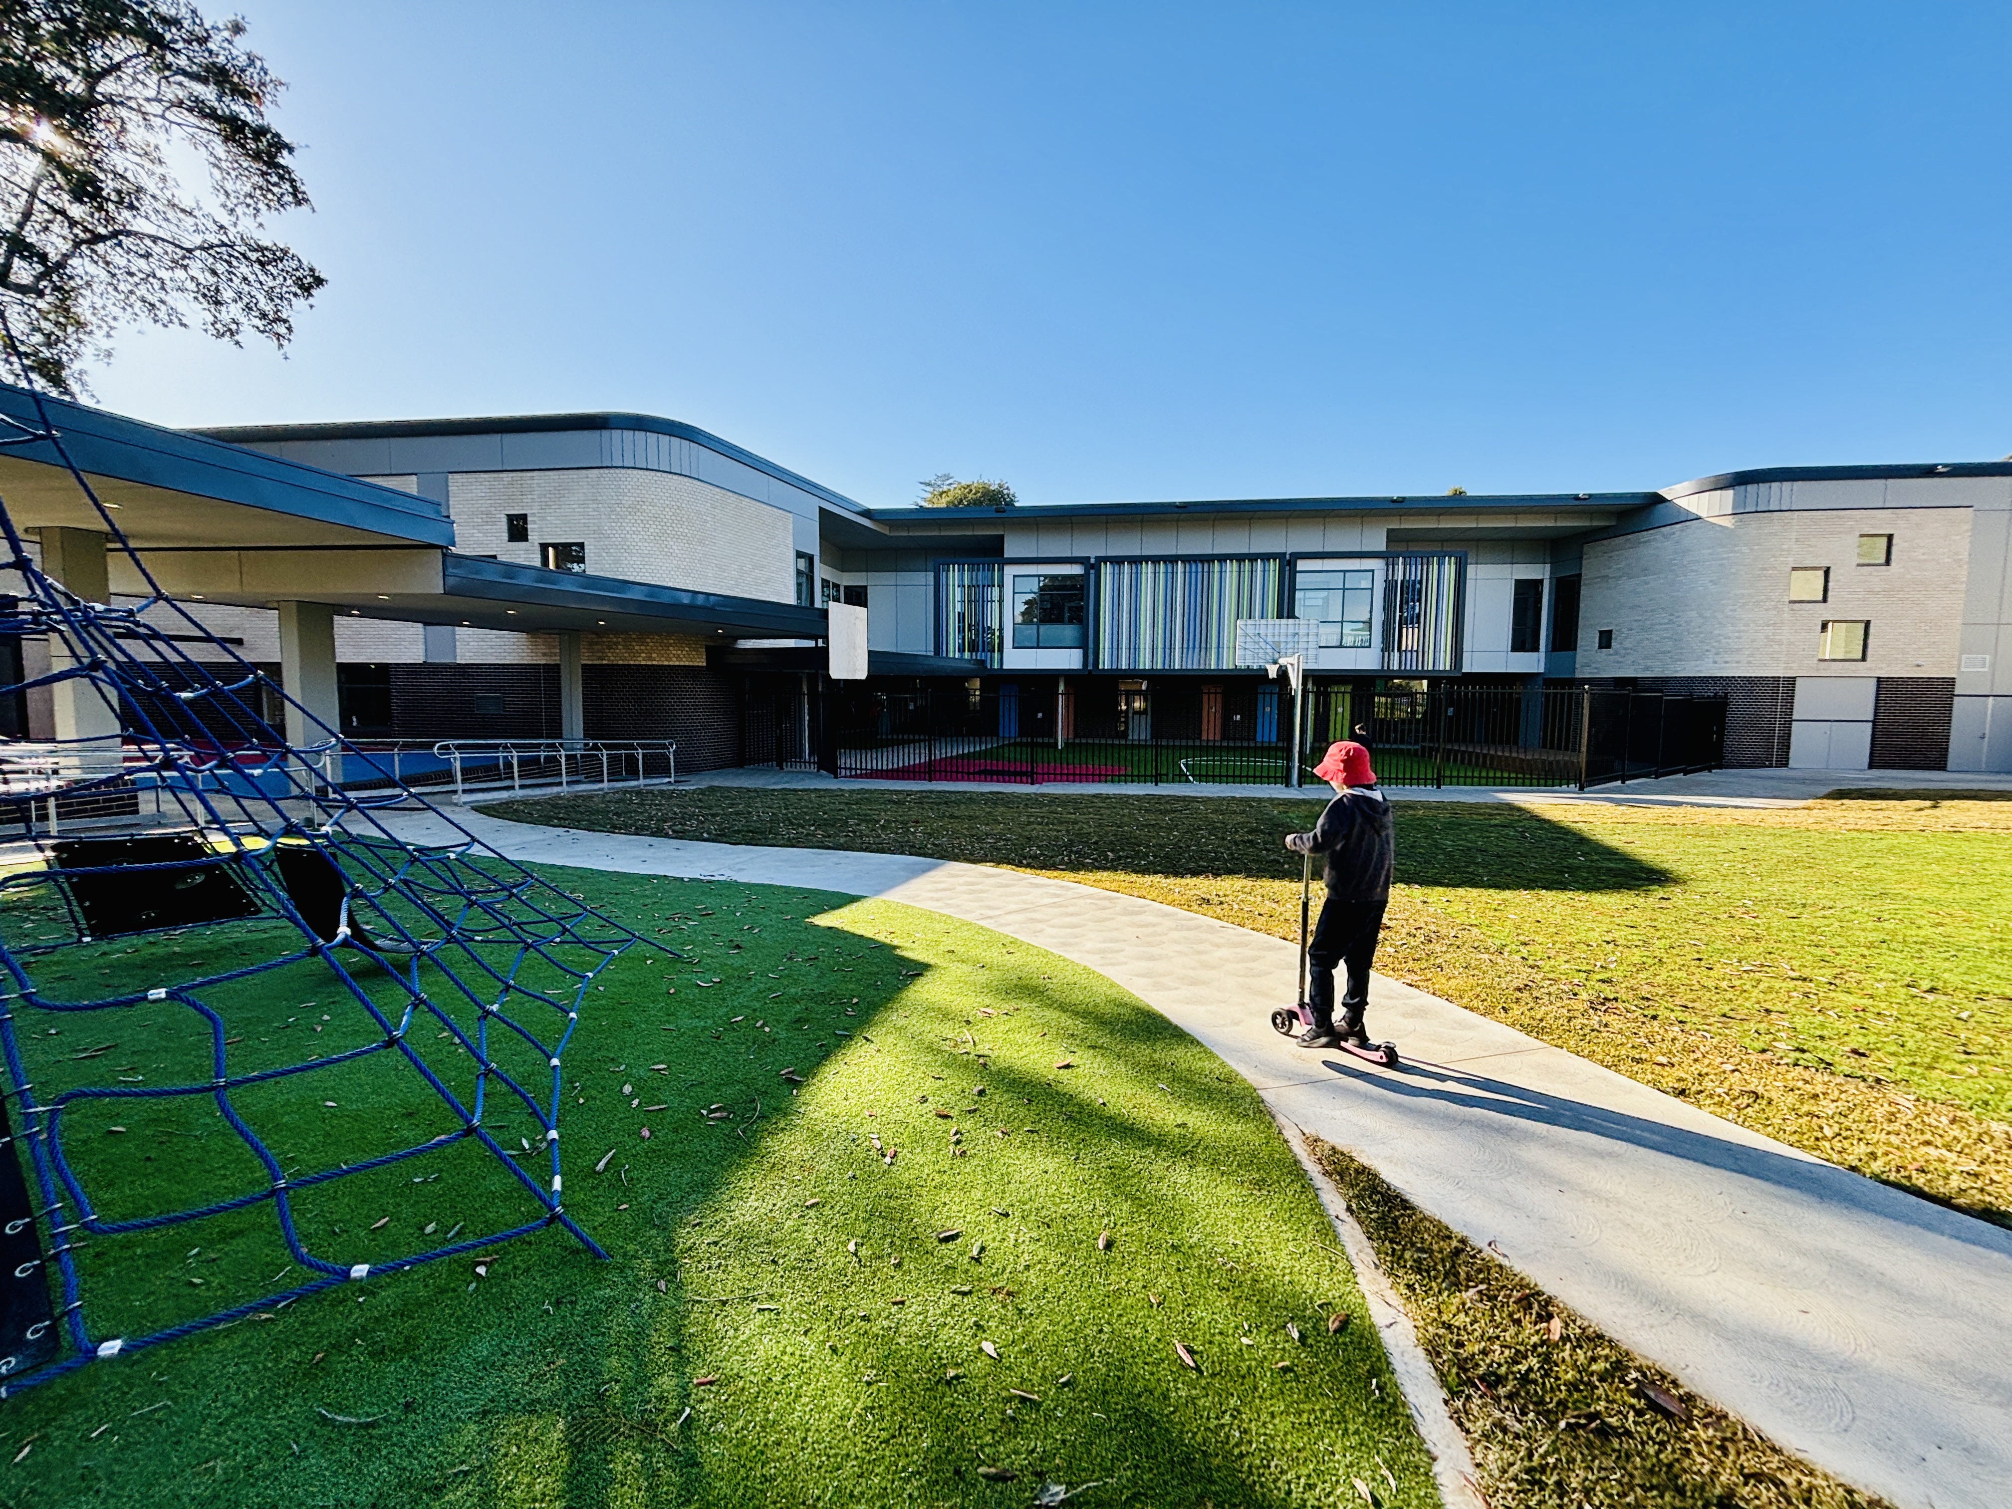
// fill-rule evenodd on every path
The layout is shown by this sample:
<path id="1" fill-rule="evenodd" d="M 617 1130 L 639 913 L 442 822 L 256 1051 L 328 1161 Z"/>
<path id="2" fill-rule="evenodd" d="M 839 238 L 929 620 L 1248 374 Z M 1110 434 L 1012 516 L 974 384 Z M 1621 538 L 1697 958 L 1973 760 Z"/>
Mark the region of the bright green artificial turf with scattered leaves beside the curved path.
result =
<path id="1" fill-rule="evenodd" d="M 547 873 L 692 956 L 624 956 L 565 1056 L 567 1209 L 612 1260 L 543 1231 L 487 1276 L 433 1264 L 91 1362 L 0 1404 L 0 1503 L 1020 1505 L 1099 1483 L 1082 1503 L 1340 1505 L 1356 1479 L 1437 1501 L 1372 1328 L 1330 1332 L 1360 1298 L 1290 1149 L 1139 1000 L 895 903 Z M 64 968 L 99 988 L 165 972 L 163 950 L 177 968 L 256 952 L 243 938 Z M 326 1050 L 306 1044 L 354 1040 L 356 1016 L 247 996 L 231 1050 Z M 32 1052 L 161 1082 L 201 1060 L 179 1026 L 64 1024 Z M 68 1056 L 103 1038 L 121 1046 Z M 254 1117 L 288 1163 L 376 1151 L 435 1115 L 392 1068 L 318 1070 Z M 66 1147 L 131 1209 L 245 1175 L 221 1123 L 171 1123 L 78 1121 Z M 455 1151 L 326 1185 L 304 1233 L 362 1262 L 509 1219 L 495 1161 Z M 284 1268 L 264 1205 L 87 1258 L 99 1336 L 270 1292 Z"/>

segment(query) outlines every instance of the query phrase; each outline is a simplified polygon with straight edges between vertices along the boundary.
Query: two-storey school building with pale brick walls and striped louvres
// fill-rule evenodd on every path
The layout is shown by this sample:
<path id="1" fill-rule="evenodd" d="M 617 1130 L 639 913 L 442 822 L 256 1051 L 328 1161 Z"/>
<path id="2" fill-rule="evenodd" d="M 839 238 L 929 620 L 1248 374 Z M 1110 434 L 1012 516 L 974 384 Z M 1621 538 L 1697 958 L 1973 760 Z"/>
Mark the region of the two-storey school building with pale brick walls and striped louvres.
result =
<path id="1" fill-rule="evenodd" d="M 1296 618 L 1356 706 L 1722 696 L 1726 765 L 2012 771 L 2012 461 L 972 511 L 867 507 L 648 414 L 58 418 L 163 585 L 358 738 L 676 738 L 706 769 L 811 759 L 833 696 L 885 728 L 932 694 L 984 734 L 1278 740 L 1237 624 Z M 0 491 L 74 555 L 91 521 L 38 517 L 36 467 L 6 453 Z M 833 602 L 865 610 L 861 682 L 829 680 Z"/>

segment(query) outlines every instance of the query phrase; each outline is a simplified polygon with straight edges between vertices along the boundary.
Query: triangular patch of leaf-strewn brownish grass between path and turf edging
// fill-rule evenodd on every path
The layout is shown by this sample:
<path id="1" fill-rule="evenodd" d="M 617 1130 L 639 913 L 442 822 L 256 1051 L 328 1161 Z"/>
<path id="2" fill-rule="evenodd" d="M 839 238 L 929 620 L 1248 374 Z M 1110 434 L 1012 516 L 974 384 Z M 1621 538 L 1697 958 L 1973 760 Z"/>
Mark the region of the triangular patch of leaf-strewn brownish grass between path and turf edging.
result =
<path id="1" fill-rule="evenodd" d="M 1493 1509 L 1885 1509 L 1684 1390 L 1366 1163 L 1308 1147 L 1410 1314 Z"/>

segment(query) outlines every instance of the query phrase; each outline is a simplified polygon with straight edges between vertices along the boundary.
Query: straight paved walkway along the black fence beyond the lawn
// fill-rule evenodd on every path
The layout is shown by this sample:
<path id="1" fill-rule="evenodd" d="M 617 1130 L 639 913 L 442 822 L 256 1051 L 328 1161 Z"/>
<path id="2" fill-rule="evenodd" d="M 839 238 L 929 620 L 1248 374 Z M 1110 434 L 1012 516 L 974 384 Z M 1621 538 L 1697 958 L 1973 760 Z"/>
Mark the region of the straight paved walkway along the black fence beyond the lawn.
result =
<path id="1" fill-rule="evenodd" d="M 1038 787 L 1004 781 L 839 781 L 823 771 L 777 771 L 746 765 L 700 771 L 678 785 L 757 787 L 763 791 L 1006 791 L 1022 797 L 1286 797 L 1286 787 L 1233 787 L 1201 783 L 1127 785 L 1115 781 L 1042 781 Z M 2012 795 L 2012 775 L 1962 775 L 1952 771 L 1706 771 L 1668 775 L 1660 781 L 1624 781 L 1612 787 L 1388 787 L 1398 801 L 1583 801 L 1602 807 L 1801 807 L 1837 789 L 1875 791 L 2002 791 Z M 1312 785 L 1308 797 L 1324 797 Z M 485 797 L 499 801 L 499 797 Z"/>

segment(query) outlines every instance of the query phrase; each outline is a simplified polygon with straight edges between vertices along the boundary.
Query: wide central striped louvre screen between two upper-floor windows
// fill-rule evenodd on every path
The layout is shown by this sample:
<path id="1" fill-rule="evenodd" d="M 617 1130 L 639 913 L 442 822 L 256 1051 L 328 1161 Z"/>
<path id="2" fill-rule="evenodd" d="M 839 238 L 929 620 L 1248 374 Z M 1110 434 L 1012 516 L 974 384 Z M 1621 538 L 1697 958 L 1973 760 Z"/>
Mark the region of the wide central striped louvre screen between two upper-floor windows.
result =
<path id="1" fill-rule="evenodd" d="M 1278 618 L 1286 563 L 1103 561 L 1097 567 L 1099 670 L 1229 670 L 1237 620 Z"/>

